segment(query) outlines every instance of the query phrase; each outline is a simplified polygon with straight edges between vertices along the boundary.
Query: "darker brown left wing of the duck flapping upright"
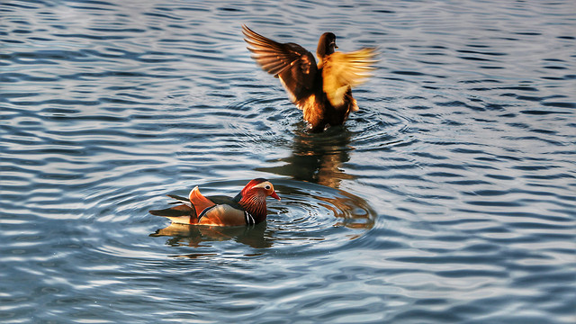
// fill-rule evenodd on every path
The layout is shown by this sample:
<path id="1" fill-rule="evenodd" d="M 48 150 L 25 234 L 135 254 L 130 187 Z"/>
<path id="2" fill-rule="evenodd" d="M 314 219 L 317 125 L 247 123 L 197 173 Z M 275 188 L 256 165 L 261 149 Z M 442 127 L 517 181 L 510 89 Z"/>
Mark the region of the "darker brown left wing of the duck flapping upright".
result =
<path id="1" fill-rule="evenodd" d="M 252 58 L 268 73 L 280 78 L 293 102 L 313 92 L 318 72 L 312 53 L 298 44 L 281 44 L 242 25 Z"/>

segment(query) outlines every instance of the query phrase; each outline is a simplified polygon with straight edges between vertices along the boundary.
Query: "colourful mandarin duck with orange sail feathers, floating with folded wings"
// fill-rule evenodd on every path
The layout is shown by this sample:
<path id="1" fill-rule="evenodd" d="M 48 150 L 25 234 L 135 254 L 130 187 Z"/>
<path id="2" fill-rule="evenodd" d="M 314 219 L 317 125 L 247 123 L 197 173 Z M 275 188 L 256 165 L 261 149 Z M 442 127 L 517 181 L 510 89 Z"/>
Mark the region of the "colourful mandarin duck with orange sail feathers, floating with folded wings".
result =
<path id="1" fill-rule="evenodd" d="M 164 210 L 150 211 L 152 215 L 164 216 L 173 223 L 211 226 L 254 225 L 266 220 L 266 197 L 277 200 L 274 186 L 266 179 L 250 181 L 234 198 L 216 195 L 205 197 L 198 186 L 190 192 L 188 199 L 173 194 L 184 204 Z M 175 202 L 177 203 L 177 202 Z"/>

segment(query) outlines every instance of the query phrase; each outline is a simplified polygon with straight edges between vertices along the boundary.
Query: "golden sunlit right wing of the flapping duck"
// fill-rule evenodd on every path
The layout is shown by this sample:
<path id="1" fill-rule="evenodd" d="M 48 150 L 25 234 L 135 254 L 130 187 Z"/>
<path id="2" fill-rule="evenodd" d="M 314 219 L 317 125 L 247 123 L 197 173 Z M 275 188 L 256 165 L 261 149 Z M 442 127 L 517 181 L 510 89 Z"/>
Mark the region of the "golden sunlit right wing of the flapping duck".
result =
<path id="1" fill-rule="evenodd" d="M 350 53 L 335 52 L 324 58 L 322 63 L 323 89 L 333 106 L 344 103 L 348 89 L 360 85 L 370 76 L 370 65 L 374 62 L 375 49 L 359 49 Z"/>

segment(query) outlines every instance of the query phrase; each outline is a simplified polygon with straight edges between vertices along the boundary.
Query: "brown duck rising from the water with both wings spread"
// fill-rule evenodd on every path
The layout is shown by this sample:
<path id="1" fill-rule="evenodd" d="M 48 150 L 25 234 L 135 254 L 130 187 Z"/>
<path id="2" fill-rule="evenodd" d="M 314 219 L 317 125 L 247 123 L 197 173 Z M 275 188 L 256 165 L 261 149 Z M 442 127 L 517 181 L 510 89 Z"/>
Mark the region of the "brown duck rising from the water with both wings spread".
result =
<path id="1" fill-rule="evenodd" d="M 295 43 L 270 40 L 242 25 L 252 58 L 268 73 L 278 77 L 293 103 L 302 110 L 311 131 L 341 125 L 351 111 L 357 111 L 351 88 L 370 76 L 375 49 L 350 53 L 336 52 L 336 35 L 320 36 L 316 56 Z"/>

